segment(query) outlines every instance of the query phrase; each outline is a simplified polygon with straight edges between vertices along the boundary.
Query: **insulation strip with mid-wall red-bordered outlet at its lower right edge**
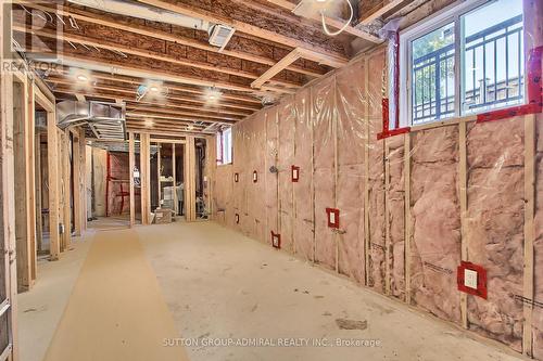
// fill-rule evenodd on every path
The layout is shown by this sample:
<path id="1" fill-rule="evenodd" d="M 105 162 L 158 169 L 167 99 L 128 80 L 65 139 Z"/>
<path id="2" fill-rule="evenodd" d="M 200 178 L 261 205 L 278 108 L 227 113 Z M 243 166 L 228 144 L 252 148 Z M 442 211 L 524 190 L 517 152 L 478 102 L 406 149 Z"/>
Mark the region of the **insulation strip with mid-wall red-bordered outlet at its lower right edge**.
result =
<path id="1" fill-rule="evenodd" d="M 326 208 L 336 208 L 337 113 L 334 87 L 334 77 L 328 77 L 312 89 L 315 142 L 313 178 L 315 184 L 315 261 L 333 269 L 336 268 L 337 250 L 334 235 L 328 228 Z"/>

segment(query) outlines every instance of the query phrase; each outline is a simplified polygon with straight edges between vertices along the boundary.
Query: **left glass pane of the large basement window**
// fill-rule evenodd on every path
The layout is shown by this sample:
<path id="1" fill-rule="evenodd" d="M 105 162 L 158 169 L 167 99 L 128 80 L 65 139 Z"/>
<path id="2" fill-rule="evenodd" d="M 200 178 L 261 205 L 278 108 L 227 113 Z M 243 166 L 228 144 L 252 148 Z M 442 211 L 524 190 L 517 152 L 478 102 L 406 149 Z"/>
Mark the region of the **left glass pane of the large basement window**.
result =
<path id="1" fill-rule="evenodd" d="M 412 42 L 413 123 L 454 115 L 454 23 Z"/>

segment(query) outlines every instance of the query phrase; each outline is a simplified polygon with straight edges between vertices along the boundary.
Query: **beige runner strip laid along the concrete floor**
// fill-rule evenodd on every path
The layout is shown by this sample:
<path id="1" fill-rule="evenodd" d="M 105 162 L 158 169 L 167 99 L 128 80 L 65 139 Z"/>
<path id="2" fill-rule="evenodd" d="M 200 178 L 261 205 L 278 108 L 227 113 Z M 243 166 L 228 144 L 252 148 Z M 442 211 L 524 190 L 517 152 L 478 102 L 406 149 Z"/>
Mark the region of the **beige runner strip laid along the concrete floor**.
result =
<path id="1" fill-rule="evenodd" d="M 99 232 L 46 361 L 188 360 L 136 232 Z"/>

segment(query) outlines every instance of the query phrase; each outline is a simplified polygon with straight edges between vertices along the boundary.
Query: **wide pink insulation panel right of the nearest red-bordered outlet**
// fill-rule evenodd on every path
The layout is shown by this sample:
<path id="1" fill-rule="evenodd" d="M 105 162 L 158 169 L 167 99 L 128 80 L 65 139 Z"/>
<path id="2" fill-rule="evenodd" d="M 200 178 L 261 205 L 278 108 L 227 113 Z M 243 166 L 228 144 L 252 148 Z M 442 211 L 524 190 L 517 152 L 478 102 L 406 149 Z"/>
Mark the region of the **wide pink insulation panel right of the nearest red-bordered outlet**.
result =
<path id="1" fill-rule="evenodd" d="M 468 260 L 488 278 L 488 299 L 468 297 L 469 327 L 520 351 L 522 302 L 514 295 L 522 295 L 523 119 L 469 127 L 467 146 Z"/>

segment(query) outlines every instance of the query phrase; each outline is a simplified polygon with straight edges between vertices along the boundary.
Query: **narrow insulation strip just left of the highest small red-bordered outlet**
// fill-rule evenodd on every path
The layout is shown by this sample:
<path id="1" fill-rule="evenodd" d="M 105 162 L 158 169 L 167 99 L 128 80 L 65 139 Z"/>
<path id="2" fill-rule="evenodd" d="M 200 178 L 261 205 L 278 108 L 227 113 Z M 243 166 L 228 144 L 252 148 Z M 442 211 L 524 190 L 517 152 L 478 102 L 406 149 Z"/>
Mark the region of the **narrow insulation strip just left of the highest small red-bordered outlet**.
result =
<path id="1" fill-rule="evenodd" d="M 286 98 L 278 106 L 279 144 L 278 162 L 279 169 L 279 217 L 281 248 L 293 254 L 295 244 L 293 238 L 293 194 L 290 169 L 294 160 L 294 131 L 295 131 L 295 106 L 292 96 Z"/>

